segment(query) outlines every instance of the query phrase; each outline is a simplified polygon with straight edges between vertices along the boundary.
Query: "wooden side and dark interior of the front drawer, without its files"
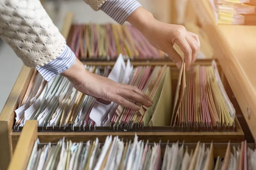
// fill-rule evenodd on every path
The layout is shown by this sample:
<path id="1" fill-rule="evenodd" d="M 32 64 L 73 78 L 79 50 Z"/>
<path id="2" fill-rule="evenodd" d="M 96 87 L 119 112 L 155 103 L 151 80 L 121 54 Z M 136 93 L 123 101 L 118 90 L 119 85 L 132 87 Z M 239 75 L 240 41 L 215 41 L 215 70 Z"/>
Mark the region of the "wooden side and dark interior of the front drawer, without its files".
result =
<path id="1" fill-rule="evenodd" d="M 20 167 L 23 167 L 23 169 L 26 168 L 26 166 L 28 165 L 28 162 L 29 162 L 29 158 L 32 154 L 34 142 L 37 140 L 38 137 L 40 139 L 40 143 L 38 143 L 38 149 L 43 148 L 48 142 L 52 142 L 51 138 L 48 138 L 48 140 L 47 140 L 47 138 L 44 138 L 44 142 L 41 140 L 42 138 L 40 138 L 40 136 L 38 136 L 41 134 L 37 132 L 36 124 L 37 124 L 37 122 L 34 120 L 32 120 L 32 121 L 29 120 L 26 122 L 26 124 L 22 130 L 20 139 L 18 140 L 18 144 L 15 149 L 14 157 L 9 165 L 10 170 L 17 169 L 17 168 L 20 169 Z M 113 137 L 115 136 L 115 134 L 111 134 L 111 135 L 113 135 Z M 64 135 L 64 136 L 65 136 L 65 139 L 68 139 L 69 141 L 71 140 L 72 142 L 75 142 L 75 141 L 73 141 L 73 139 L 79 140 L 79 142 L 82 141 L 83 142 L 82 147 L 85 147 L 85 144 L 88 140 L 90 140 L 91 142 L 94 141 L 93 139 L 85 139 L 85 138 L 77 139 L 77 138 L 72 138 L 72 137 L 70 138 L 70 135 Z M 57 136 L 55 136 L 55 137 L 56 137 L 57 142 L 62 138 L 62 136 L 60 136 L 60 138 L 58 138 L 58 139 L 57 139 Z M 103 142 L 99 144 L 101 147 L 103 147 L 105 139 L 103 139 L 102 136 L 98 136 L 98 137 L 99 137 L 99 142 L 103 140 Z M 113 137 L 112 137 L 112 139 L 113 139 Z M 122 137 L 123 136 L 119 136 L 119 139 L 121 139 Z M 142 140 L 141 137 L 142 136 L 138 136 L 138 140 Z M 131 138 L 134 139 L 134 136 L 131 136 Z M 148 136 L 148 138 L 150 138 L 150 136 Z M 155 141 L 156 141 L 156 139 L 155 139 Z M 159 159 L 161 161 L 161 160 L 163 160 L 164 157 L 166 157 L 166 155 L 165 155 L 166 145 L 172 146 L 172 144 L 175 144 L 177 141 L 175 141 L 174 143 L 170 142 L 169 144 L 162 142 L 162 139 L 160 139 L 159 141 L 160 141 L 160 143 L 159 143 L 160 147 L 158 148 L 159 152 L 157 152 L 157 154 L 159 154 L 159 156 L 160 156 Z M 57 142 L 51 143 L 51 146 L 56 145 Z M 144 140 L 144 142 L 145 142 L 145 140 Z M 200 142 L 200 143 L 202 144 L 203 142 Z M 247 154 L 244 154 L 244 153 L 248 153 L 249 148 L 252 150 L 255 149 L 255 144 L 253 144 L 253 143 L 245 144 L 244 142 L 240 142 L 240 143 L 232 143 L 232 142 L 231 143 L 212 143 L 212 142 L 205 143 L 204 142 L 203 147 L 200 143 L 193 142 L 193 141 L 189 141 L 189 143 L 179 142 L 177 147 L 179 147 L 179 148 L 183 147 L 183 152 L 184 153 L 187 152 L 187 154 L 191 154 L 192 158 L 194 158 L 194 159 L 198 159 L 198 157 L 200 155 L 200 152 L 198 152 L 198 149 L 199 149 L 199 147 L 201 147 L 201 149 L 205 150 L 204 154 L 206 154 L 206 157 L 207 157 L 205 160 L 205 162 L 208 162 L 205 165 L 205 166 L 208 166 L 207 169 L 212 169 L 213 167 L 216 166 L 216 161 L 214 161 L 216 158 L 222 162 L 229 162 L 229 159 L 231 159 L 230 154 L 233 153 L 233 149 L 235 149 L 235 148 L 236 148 L 236 150 L 241 150 L 241 152 L 242 152 L 241 155 L 244 156 L 243 159 L 241 159 L 239 157 L 239 160 L 241 160 L 241 162 L 244 162 L 244 161 L 247 162 L 247 160 L 250 159 L 250 156 L 249 155 L 247 156 Z M 151 147 L 154 146 L 154 144 L 152 144 L 150 142 L 148 143 L 148 145 L 151 145 Z M 168 152 L 171 152 L 171 150 L 167 151 L 167 153 Z M 175 153 L 173 153 L 173 154 L 175 154 Z M 250 161 L 248 161 L 248 163 L 249 162 Z M 225 166 L 225 164 L 224 165 L 223 164 L 221 166 Z M 161 166 L 161 164 L 159 166 Z"/>

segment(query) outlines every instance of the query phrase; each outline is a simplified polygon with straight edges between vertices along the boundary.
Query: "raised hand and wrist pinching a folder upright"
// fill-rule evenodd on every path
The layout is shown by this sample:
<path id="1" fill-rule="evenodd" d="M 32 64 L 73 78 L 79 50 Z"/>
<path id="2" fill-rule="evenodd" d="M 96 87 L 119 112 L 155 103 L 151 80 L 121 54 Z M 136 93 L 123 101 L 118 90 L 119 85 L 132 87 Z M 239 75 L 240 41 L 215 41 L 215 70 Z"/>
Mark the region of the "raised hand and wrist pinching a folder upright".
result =
<path id="1" fill-rule="evenodd" d="M 198 35 L 186 31 L 184 26 L 162 23 L 155 20 L 152 14 L 143 7 L 137 8 L 127 21 L 137 28 L 154 47 L 164 51 L 181 67 L 182 59 L 175 51 L 173 45 L 176 43 L 184 53 L 186 70 L 195 62 L 200 49 Z"/>

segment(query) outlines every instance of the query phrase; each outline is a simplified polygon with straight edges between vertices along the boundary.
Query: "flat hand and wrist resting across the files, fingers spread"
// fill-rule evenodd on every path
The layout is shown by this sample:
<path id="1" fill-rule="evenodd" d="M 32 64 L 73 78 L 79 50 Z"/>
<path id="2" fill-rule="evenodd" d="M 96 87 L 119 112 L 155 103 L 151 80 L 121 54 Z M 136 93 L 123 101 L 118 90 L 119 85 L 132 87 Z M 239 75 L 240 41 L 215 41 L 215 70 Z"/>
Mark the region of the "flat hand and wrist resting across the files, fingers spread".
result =
<path id="1" fill-rule="evenodd" d="M 78 91 L 93 96 L 105 104 L 112 101 L 133 110 L 140 110 L 140 106 L 126 99 L 132 99 L 147 107 L 150 107 L 153 102 L 135 86 L 120 84 L 106 77 L 90 73 L 79 59 L 76 59 L 75 64 L 61 75 L 67 77 Z"/>

